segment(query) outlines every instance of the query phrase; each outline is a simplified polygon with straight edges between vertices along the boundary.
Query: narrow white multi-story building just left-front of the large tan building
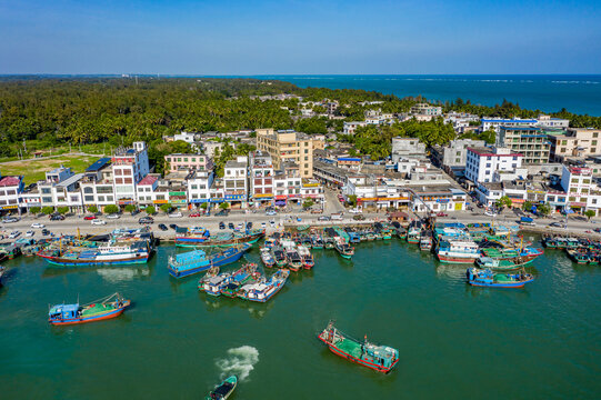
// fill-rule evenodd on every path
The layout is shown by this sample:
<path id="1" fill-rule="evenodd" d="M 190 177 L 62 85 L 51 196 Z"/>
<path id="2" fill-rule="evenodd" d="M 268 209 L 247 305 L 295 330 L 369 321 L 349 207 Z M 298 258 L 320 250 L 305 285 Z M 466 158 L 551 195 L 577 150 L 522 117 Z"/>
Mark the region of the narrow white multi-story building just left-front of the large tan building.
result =
<path id="1" fill-rule="evenodd" d="M 250 153 L 250 192 L 256 207 L 273 202 L 273 162 L 267 152 Z"/>

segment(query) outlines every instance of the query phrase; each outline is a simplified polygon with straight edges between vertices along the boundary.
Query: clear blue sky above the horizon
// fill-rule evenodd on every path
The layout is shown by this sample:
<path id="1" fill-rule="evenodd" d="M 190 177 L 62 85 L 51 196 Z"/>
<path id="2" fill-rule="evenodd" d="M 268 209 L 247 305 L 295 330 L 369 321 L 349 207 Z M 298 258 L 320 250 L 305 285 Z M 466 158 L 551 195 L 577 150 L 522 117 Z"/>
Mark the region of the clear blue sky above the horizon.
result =
<path id="1" fill-rule="evenodd" d="M 600 0 L 0 0 L 0 73 L 601 73 L 600 21 Z"/>

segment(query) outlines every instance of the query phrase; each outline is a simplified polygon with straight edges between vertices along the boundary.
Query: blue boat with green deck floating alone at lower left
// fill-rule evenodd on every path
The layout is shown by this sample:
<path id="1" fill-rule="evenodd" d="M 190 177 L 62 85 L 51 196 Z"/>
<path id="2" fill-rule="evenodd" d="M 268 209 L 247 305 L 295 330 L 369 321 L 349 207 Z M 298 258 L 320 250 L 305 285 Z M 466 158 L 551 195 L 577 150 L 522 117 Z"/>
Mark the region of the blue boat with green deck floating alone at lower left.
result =
<path id="1" fill-rule="evenodd" d="M 48 322 L 54 326 L 77 324 L 101 321 L 119 317 L 126 308 L 131 304 L 119 293 L 111 294 L 104 299 L 97 300 L 89 304 L 57 304 L 48 312 Z"/>

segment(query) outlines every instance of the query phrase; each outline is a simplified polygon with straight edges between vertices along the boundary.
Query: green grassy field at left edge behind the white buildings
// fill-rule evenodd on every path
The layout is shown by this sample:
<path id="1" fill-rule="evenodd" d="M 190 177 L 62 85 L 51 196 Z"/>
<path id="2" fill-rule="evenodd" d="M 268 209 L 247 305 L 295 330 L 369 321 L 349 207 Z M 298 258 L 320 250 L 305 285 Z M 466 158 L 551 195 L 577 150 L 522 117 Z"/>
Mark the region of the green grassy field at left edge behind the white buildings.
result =
<path id="1" fill-rule="evenodd" d="M 48 160 L 12 161 L 0 166 L 2 176 L 24 176 L 27 183 L 33 183 L 46 179 L 46 172 L 59 168 L 70 167 L 76 173 L 83 172 L 98 157 L 64 156 Z"/>

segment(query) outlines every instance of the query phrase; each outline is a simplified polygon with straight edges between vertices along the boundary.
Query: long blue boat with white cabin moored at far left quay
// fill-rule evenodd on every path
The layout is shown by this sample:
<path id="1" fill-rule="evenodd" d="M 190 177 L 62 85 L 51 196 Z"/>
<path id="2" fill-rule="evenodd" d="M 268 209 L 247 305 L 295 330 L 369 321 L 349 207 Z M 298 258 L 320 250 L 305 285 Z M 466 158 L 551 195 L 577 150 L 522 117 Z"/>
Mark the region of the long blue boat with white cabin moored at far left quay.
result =
<path id="1" fill-rule="evenodd" d="M 51 264 L 61 267 L 114 266 L 146 263 L 151 250 L 147 241 L 110 241 L 98 248 L 44 249 L 38 256 Z"/>

